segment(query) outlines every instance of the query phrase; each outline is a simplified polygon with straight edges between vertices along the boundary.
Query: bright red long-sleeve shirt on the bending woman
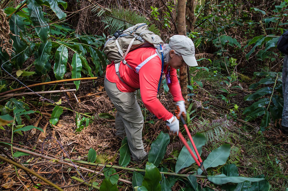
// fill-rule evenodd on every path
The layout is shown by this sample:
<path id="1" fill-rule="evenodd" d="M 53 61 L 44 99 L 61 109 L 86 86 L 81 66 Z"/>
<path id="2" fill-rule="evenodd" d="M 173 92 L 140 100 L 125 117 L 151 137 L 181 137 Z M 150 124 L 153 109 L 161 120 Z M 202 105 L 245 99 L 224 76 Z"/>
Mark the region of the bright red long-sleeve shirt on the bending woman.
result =
<path id="1" fill-rule="evenodd" d="M 142 101 L 146 108 L 155 114 L 158 119 L 164 121 L 173 117 L 173 114 L 167 111 L 161 102 L 157 99 L 157 88 L 161 75 L 161 59 L 156 54 L 153 47 L 138 48 L 127 54 L 125 60 L 131 66 L 120 63 L 119 73 L 122 82 L 115 72 L 115 65 L 107 65 L 106 78 L 110 82 L 116 83 L 117 88 L 122 92 L 134 92 L 140 88 Z M 164 66 L 164 73 L 167 73 L 167 66 Z M 183 100 L 181 88 L 177 79 L 177 71 L 170 69 L 171 84 L 168 85 L 173 100 L 175 102 Z"/>

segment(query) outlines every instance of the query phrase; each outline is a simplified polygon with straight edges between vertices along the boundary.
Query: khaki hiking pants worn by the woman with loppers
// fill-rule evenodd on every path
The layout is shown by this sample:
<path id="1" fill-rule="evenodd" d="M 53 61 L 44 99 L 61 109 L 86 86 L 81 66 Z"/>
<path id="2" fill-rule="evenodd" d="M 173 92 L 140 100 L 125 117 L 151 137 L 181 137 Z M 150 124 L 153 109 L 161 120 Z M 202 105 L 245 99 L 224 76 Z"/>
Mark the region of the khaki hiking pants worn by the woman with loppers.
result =
<path id="1" fill-rule="evenodd" d="M 137 103 L 136 91 L 122 92 L 116 83 L 104 80 L 105 90 L 117 109 L 115 117 L 116 135 L 124 137 L 126 132 L 133 161 L 140 161 L 146 156 L 142 142 L 144 119 Z"/>

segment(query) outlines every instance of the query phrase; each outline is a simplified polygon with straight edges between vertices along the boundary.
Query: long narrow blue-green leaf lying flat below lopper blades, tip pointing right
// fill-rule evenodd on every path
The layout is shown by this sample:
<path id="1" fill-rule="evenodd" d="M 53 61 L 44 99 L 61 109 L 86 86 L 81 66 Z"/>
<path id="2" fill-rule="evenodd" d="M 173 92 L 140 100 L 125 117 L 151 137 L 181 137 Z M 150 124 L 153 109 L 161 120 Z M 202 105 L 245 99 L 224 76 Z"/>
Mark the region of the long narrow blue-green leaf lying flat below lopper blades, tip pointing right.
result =
<path id="1" fill-rule="evenodd" d="M 241 183 L 244 181 L 251 181 L 251 182 L 259 182 L 265 180 L 265 178 L 247 178 L 247 177 L 240 177 L 240 176 L 226 176 L 224 174 L 220 174 L 217 176 L 207 176 L 208 180 L 214 184 L 226 184 L 228 182 L 231 183 Z"/>

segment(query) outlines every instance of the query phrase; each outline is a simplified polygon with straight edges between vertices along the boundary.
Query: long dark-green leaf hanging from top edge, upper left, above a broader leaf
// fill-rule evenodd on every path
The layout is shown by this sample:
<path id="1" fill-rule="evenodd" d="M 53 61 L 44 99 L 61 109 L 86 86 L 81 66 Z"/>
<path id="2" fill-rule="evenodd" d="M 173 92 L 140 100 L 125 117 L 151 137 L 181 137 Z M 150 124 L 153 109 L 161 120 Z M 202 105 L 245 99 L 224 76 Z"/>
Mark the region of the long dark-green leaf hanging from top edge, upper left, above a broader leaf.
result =
<path id="1" fill-rule="evenodd" d="M 34 0 L 28 0 L 27 7 L 30 19 L 33 26 L 35 27 L 36 33 L 38 34 L 42 42 L 46 42 L 49 33 L 49 25 L 44 19 L 42 7 Z M 44 64 L 45 63 L 46 62 L 44 62 Z"/>

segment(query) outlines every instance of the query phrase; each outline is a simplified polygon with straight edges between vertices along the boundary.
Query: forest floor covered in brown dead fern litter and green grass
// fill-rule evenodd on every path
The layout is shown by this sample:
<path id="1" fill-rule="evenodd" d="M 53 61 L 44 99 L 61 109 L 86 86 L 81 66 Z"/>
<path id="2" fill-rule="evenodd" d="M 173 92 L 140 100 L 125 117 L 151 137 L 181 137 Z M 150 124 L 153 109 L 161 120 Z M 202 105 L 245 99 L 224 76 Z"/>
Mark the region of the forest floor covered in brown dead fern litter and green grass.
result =
<path id="1" fill-rule="evenodd" d="M 196 132 L 200 132 L 204 134 L 207 139 L 205 146 L 202 148 L 202 158 L 206 158 L 209 152 L 223 143 L 228 143 L 231 145 L 231 153 L 227 163 L 235 164 L 238 167 L 239 176 L 253 177 L 263 174 L 271 185 L 271 190 L 285 190 L 285 188 L 288 187 L 288 137 L 281 134 L 279 130 L 275 128 L 274 124 L 271 124 L 264 133 L 260 133 L 260 121 L 246 123 L 241 118 L 240 111 L 250 105 L 249 102 L 243 101 L 243 97 L 249 94 L 248 86 L 250 82 L 242 82 L 241 85 L 243 89 L 238 88 L 233 90 L 236 95 L 228 98 L 227 103 L 226 100 L 221 99 L 221 96 L 219 96 L 225 95 L 225 93 L 219 90 L 219 87 L 223 85 L 217 80 L 217 77 L 213 77 L 213 73 L 207 75 L 203 74 L 202 71 L 198 72 L 193 79 L 201 80 L 203 87 L 196 86 L 196 83 L 194 83 L 193 95 L 190 97 L 190 102 L 193 104 L 190 111 L 190 118 L 194 118 L 188 123 L 188 127 L 192 132 L 192 136 Z M 65 88 L 72 87 L 73 86 L 66 86 Z M 67 158 L 67 156 L 55 140 L 48 138 L 54 137 L 61 143 L 71 159 L 87 161 L 88 150 L 93 148 L 97 152 L 97 155 L 106 154 L 110 158 L 118 153 L 116 161 L 114 161 L 113 164 L 119 165 L 118 151 L 121 146 L 121 139 L 115 135 L 115 120 L 99 118 L 100 113 L 109 113 L 112 116 L 116 114 L 115 108 L 103 87 L 104 80 L 101 78 L 95 81 L 95 83 L 91 82 L 80 85 L 79 91 L 76 93 L 78 101 L 76 101 L 73 93 L 55 95 L 53 99 L 57 100 L 61 98 L 61 106 L 64 107 L 64 112 L 61 114 L 60 120 L 55 126 L 49 125 L 49 119 L 54 106 L 45 103 L 41 105 L 41 102 L 36 106 L 33 101 L 37 101 L 37 98 L 25 96 L 25 103 L 29 105 L 31 110 L 40 111 L 42 117 L 39 113 L 34 113 L 31 115 L 30 122 L 23 119 L 23 123 L 30 125 L 39 123 L 38 127 L 46 129 L 46 131 L 45 134 L 38 130 L 36 132 L 25 132 L 23 133 L 24 136 L 14 134 L 14 146 L 38 154 L 40 154 L 43 149 L 44 155 L 50 156 L 55 160 L 45 159 L 35 155 L 15 157 L 15 160 L 53 183 L 59 185 L 79 183 L 70 178 L 78 175 L 73 167 L 57 163 L 57 160 L 63 160 Z M 151 114 L 143 105 L 140 96 L 137 96 L 139 98 L 138 103 L 142 108 L 145 118 L 143 128 L 144 148 L 149 152 L 151 143 L 159 133 L 161 131 L 168 133 L 168 130 L 165 123 Z M 20 97 L 18 99 L 20 99 Z M 163 90 L 161 103 L 169 111 L 174 111 L 175 104 L 173 103 L 172 96 L 169 93 L 165 94 Z M 239 108 L 235 111 L 235 115 L 232 115 L 230 109 L 233 110 L 235 104 L 237 104 Z M 70 108 L 70 110 L 65 108 Z M 82 130 L 79 126 L 76 126 L 75 120 L 77 119 L 75 119 L 75 112 L 82 113 L 81 119 L 83 119 L 83 123 L 86 123 L 86 118 L 90 120 L 89 125 Z M 5 129 L 5 131 L 0 130 L 0 141 L 11 143 L 11 129 L 7 127 Z M 180 130 L 182 132 L 184 131 L 183 126 L 180 127 Z M 184 132 L 183 134 L 186 135 Z M 167 147 L 167 153 L 161 165 L 173 169 L 175 168 L 176 160 L 183 144 L 179 140 L 179 137 L 175 137 L 172 134 L 169 135 L 170 144 Z M 45 140 L 43 148 L 43 140 L 46 137 L 47 140 Z M 8 147 L 10 148 L 10 146 Z M 10 151 L 10 149 L 6 149 L 9 155 L 11 154 Z M 16 152 L 16 150 L 13 151 Z M 130 162 L 127 167 L 144 169 L 145 164 L 146 161 L 141 164 Z M 82 166 L 95 170 L 95 168 L 89 165 Z M 182 169 L 180 173 L 193 174 L 196 167 L 196 165 L 193 165 Z M 220 167 L 221 166 L 218 166 L 212 169 L 214 175 L 220 173 Z M 99 167 L 97 169 L 99 170 Z M 116 169 L 116 171 L 119 174 L 119 178 L 132 181 L 132 172 L 119 169 Z M 16 176 L 13 165 L 7 165 L 7 163 L 1 162 L 0 172 L 2 176 L 0 185 L 7 185 L 7 189 L 0 187 L 0 190 L 25 190 L 24 185 L 31 190 L 40 189 L 33 186 L 31 180 L 22 170 L 18 171 L 19 177 L 21 178 L 20 181 Z M 91 172 L 81 170 L 80 172 L 85 178 L 90 177 L 92 174 Z M 79 175 L 78 177 L 80 178 Z M 35 180 L 36 178 L 33 177 L 33 179 Z M 103 179 L 104 176 L 97 176 L 95 181 L 101 183 Z M 36 183 L 39 183 L 39 181 L 36 181 Z M 215 187 L 205 180 L 199 180 L 199 183 L 201 185 Z M 184 187 L 185 185 L 182 184 L 181 181 L 177 181 L 172 187 L 172 190 L 178 191 Z M 80 186 L 65 188 L 65 190 L 83 190 L 82 188 L 88 189 L 87 186 L 82 184 Z M 123 191 L 132 190 L 132 185 L 119 181 L 118 188 Z"/>

